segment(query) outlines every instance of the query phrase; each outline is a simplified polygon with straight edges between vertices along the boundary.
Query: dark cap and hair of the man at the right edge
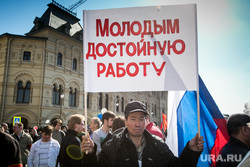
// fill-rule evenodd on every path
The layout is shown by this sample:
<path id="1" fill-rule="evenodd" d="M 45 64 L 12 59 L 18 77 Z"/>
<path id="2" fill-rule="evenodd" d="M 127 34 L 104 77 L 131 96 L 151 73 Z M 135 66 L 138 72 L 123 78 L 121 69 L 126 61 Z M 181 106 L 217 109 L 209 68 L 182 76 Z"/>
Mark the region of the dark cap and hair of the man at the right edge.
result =
<path id="1" fill-rule="evenodd" d="M 228 135 L 237 135 L 240 132 L 241 127 L 247 126 L 250 122 L 250 116 L 247 114 L 233 114 L 227 121 Z"/>

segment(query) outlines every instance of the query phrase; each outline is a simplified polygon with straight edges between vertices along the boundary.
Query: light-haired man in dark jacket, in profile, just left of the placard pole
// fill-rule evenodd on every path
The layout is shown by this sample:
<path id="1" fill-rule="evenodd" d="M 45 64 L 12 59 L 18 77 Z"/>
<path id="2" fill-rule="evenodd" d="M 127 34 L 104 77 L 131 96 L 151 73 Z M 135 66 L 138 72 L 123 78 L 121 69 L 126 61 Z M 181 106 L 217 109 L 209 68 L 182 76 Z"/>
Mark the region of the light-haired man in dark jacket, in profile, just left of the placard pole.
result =
<path id="1" fill-rule="evenodd" d="M 68 122 L 68 132 L 62 140 L 58 162 L 63 167 L 88 166 L 88 160 L 83 164 L 85 156 L 81 151 L 81 141 L 78 133 L 84 131 L 84 117 L 80 114 L 72 115 Z M 91 159 L 90 159 L 91 160 Z"/>

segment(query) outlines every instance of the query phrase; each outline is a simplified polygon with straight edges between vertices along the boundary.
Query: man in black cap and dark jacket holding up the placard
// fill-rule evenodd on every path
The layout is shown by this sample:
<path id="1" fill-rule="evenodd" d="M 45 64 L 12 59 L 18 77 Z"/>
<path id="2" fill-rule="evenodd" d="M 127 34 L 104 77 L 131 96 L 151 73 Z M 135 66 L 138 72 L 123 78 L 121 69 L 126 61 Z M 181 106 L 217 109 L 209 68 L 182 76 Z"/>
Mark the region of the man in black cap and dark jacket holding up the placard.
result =
<path id="1" fill-rule="evenodd" d="M 179 158 L 169 150 L 166 143 L 145 130 L 148 111 L 145 104 L 139 101 L 132 101 L 125 107 L 125 121 L 127 127 L 112 137 L 103 146 L 98 155 L 95 154 L 95 144 L 83 136 L 81 149 L 88 151 L 87 158 L 95 157 L 91 166 L 98 167 L 125 167 L 139 166 L 144 167 L 179 167 L 196 166 L 199 156 L 204 148 L 203 137 L 197 135 L 190 140 Z"/>

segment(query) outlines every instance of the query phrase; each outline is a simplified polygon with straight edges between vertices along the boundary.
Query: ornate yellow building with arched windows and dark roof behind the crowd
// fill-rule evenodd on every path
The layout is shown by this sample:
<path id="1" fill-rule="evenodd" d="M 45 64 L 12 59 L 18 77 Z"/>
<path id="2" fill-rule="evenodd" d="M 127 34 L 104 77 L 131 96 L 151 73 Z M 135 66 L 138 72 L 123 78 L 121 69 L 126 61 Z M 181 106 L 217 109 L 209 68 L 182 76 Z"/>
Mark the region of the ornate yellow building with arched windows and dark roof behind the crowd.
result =
<path id="1" fill-rule="evenodd" d="M 143 101 L 151 121 L 167 114 L 167 92 L 88 93 L 84 103 L 83 34 L 79 19 L 53 2 L 25 36 L 0 35 L 0 122 L 20 116 L 25 128 L 72 114 L 88 121 L 103 108 L 123 115 L 131 100 Z"/>

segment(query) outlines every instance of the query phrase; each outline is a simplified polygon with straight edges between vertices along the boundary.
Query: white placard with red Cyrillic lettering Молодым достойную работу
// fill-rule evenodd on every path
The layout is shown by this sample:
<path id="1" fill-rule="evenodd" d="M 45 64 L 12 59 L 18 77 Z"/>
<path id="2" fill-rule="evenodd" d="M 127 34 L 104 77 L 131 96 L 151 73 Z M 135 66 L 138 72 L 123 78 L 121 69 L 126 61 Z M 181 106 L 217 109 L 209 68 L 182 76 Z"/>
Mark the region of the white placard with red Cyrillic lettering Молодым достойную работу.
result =
<path id="1" fill-rule="evenodd" d="M 86 92 L 197 90 L 195 4 L 83 12 Z"/>

